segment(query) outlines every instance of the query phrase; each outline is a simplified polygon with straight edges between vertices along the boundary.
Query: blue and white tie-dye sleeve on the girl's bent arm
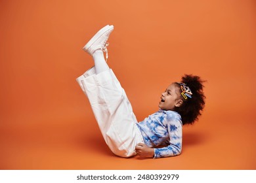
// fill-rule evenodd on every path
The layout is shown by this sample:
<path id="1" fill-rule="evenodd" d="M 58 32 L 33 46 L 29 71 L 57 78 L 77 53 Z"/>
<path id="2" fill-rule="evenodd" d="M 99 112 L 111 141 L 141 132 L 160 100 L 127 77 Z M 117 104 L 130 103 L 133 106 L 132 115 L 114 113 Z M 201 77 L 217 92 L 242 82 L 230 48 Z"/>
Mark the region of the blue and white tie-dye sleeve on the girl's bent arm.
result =
<path id="1" fill-rule="evenodd" d="M 182 123 L 180 120 L 171 120 L 167 124 L 169 145 L 163 148 L 154 148 L 154 158 L 177 156 L 182 148 Z"/>

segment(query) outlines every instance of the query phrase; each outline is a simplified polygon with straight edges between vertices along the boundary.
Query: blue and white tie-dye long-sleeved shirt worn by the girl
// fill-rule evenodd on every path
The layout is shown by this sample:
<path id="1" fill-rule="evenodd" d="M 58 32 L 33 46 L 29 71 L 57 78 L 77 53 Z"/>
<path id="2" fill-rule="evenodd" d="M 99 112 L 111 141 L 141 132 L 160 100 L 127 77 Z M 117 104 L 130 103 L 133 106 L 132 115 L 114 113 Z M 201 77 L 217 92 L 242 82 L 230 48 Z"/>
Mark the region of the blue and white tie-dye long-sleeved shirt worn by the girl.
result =
<path id="1" fill-rule="evenodd" d="M 137 125 L 145 144 L 154 148 L 154 158 L 181 154 L 182 121 L 179 113 L 160 109 Z"/>

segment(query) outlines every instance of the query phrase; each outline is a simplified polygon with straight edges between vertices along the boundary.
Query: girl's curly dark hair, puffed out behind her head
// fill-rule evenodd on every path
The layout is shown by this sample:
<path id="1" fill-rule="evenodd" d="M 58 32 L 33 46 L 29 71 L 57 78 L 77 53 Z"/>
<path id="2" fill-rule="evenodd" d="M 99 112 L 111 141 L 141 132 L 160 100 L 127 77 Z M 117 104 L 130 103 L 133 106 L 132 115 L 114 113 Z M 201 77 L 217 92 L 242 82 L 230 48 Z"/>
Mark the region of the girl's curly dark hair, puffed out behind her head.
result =
<path id="1" fill-rule="evenodd" d="M 183 101 L 180 107 L 176 107 L 175 111 L 181 114 L 182 124 L 194 124 L 198 117 L 202 114 L 203 108 L 205 107 L 205 95 L 203 93 L 203 82 L 199 76 L 194 75 L 184 75 L 181 78 L 181 82 L 186 84 L 191 90 L 192 98 L 184 99 L 181 95 Z M 175 83 L 181 91 L 181 86 L 179 83 Z"/>

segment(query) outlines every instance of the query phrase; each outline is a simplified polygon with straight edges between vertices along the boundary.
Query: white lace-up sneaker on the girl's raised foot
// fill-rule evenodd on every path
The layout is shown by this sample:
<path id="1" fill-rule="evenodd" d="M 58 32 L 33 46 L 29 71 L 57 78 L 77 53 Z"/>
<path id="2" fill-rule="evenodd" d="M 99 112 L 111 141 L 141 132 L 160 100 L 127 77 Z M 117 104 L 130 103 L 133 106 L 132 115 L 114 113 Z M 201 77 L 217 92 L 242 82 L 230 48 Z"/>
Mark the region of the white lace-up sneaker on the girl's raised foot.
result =
<path id="1" fill-rule="evenodd" d="M 106 59 L 108 59 L 108 50 L 106 46 L 108 46 L 108 37 L 110 36 L 110 33 L 113 31 L 113 29 L 113 25 L 106 25 L 100 29 L 93 36 L 93 38 L 87 42 L 87 44 L 85 44 L 83 50 L 85 50 L 85 52 L 89 53 L 91 56 L 93 56 L 96 50 L 102 50 L 103 52 L 106 52 Z"/>

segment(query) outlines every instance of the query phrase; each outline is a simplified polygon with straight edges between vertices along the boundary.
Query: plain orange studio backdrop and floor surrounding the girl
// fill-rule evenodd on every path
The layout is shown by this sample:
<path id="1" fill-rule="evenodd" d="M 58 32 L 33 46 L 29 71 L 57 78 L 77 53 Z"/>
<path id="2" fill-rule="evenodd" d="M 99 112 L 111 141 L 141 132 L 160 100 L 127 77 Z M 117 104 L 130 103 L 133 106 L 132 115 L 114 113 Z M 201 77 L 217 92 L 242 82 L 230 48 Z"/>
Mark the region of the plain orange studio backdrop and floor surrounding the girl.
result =
<path id="1" fill-rule="evenodd" d="M 0 1 L 0 169 L 256 169 L 255 1 Z M 81 48 L 115 29 L 108 63 L 138 120 L 184 73 L 202 76 L 181 156 L 124 159 L 103 141 L 75 78 Z"/>

